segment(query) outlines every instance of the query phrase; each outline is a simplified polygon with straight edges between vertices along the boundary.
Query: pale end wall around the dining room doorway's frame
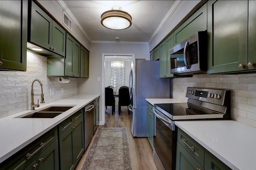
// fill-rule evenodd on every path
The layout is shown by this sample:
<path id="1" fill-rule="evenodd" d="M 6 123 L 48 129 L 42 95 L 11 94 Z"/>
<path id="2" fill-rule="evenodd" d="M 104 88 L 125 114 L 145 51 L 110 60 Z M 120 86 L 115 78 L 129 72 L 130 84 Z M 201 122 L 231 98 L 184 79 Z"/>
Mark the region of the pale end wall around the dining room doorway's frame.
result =
<path id="1" fill-rule="evenodd" d="M 89 57 L 89 78 L 78 79 L 78 93 L 79 94 L 102 94 L 102 54 L 116 53 L 116 54 L 134 54 L 135 58 L 150 59 L 149 46 L 147 43 L 92 43 Z M 97 78 L 100 77 L 100 82 Z M 102 96 L 101 96 L 102 97 Z M 100 122 L 105 112 L 104 100 L 100 99 Z"/>

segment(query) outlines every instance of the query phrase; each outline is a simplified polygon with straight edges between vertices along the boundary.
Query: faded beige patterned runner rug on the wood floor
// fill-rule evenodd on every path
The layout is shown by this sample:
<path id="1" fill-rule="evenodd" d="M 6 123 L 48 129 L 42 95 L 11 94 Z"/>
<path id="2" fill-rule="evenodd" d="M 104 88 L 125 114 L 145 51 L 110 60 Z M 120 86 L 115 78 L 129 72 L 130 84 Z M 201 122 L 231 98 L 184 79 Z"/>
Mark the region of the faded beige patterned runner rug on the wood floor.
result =
<path id="1" fill-rule="evenodd" d="M 81 170 L 132 170 L 126 128 L 99 128 Z"/>

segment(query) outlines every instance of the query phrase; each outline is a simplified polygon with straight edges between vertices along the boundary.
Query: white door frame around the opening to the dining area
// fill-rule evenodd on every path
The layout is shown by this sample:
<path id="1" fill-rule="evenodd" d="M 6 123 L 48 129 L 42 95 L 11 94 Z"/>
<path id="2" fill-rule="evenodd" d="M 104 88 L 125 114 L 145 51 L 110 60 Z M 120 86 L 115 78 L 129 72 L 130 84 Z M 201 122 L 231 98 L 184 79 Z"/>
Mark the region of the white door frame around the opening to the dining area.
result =
<path id="1" fill-rule="evenodd" d="M 101 89 L 101 99 L 102 99 L 102 121 L 100 125 L 105 124 L 105 56 L 130 56 L 134 60 L 134 54 L 122 54 L 122 53 L 102 53 L 102 89 Z"/>

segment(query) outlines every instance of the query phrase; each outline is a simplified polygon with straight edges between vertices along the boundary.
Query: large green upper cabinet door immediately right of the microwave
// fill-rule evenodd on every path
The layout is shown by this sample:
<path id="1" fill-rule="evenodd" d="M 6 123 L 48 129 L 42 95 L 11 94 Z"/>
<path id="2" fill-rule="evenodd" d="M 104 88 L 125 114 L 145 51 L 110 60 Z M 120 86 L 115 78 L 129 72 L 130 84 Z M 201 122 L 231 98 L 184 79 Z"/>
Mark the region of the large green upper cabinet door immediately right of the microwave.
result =
<path id="1" fill-rule="evenodd" d="M 247 70 L 248 1 L 210 0 L 207 5 L 208 74 Z"/>

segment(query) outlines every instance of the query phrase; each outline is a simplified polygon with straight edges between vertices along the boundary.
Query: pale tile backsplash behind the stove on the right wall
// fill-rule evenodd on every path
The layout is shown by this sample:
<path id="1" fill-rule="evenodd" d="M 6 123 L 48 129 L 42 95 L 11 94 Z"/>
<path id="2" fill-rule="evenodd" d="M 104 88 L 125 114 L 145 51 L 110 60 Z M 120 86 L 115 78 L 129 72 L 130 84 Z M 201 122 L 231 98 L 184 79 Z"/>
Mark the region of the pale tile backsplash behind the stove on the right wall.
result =
<path id="1" fill-rule="evenodd" d="M 256 74 L 199 74 L 172 79 L 172 97 L 187 102 L 187 87 L 231 90 L 231 119 L 256 127 Z"/>

